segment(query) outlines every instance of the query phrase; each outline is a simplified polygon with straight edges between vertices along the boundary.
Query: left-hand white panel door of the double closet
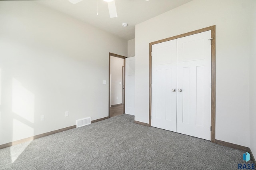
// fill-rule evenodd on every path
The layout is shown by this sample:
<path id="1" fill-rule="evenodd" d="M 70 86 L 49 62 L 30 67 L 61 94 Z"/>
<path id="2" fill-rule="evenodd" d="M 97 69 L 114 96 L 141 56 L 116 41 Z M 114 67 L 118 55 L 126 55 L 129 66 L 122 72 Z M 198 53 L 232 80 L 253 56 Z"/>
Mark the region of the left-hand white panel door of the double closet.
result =
<path id="1" fill-rule="evenodd" d="M 152 45 L 151 126 L 176 132 L 177 40 Z"/>

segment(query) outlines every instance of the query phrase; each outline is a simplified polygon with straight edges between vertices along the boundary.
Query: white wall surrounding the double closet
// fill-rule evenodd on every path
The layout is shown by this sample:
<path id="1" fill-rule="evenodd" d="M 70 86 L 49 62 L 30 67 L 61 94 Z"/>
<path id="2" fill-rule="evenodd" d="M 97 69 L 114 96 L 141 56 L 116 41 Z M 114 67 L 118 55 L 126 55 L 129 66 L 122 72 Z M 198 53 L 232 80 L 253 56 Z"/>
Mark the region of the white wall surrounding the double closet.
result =
<path id="1" fill-rule="evenodd" d="M 216 139 L 249 147 L 250 2 L 193 0 L 136 25 L 136 121 L 149 119 L 149 43 L 216 25 Z"/>

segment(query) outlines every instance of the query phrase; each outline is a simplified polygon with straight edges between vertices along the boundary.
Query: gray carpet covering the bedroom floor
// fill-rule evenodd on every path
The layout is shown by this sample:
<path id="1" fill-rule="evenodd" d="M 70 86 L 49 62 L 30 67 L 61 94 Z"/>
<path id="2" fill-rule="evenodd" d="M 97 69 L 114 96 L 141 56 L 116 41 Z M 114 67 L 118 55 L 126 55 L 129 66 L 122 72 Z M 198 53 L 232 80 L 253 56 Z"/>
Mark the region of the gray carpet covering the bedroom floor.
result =
<path id="1" fill-rule="evenodd" d="M 244 164 L 244 151 L 133 121 L 124 114 L 4 148 L 0 169 L 236 170 Z"/>

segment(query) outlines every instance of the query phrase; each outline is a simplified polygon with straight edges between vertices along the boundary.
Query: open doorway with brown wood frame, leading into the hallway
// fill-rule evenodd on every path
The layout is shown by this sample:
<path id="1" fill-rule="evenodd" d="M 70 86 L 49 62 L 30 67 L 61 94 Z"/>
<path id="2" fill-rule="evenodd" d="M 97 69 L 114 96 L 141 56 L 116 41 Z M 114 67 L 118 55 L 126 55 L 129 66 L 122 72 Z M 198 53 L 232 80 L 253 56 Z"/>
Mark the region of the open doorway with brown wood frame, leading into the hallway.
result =
<path id="1" fill-rule="evenodd" d="M 125 111 L 125 59 L 122 55 L 109 53 L 108 117 L 124 114 Z"/>

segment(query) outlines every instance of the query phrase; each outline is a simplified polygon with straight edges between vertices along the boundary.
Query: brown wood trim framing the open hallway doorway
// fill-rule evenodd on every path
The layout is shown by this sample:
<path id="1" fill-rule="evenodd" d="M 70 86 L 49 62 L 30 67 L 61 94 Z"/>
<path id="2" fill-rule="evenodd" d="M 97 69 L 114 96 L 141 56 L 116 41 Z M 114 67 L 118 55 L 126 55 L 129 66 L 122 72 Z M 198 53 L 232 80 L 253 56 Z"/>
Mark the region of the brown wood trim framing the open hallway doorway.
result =
<path id="1" fill-rule="evenodd" d="M 124 77 L 125 77 L 125 59 L 127 57 L 114 54 L 114 53 L 108 53 L 108 118 L 110 118 L 110 57 L 118 57 L 124 59 Z M 123 113 L 125 113 L 125 79 L 124 79 L 124 109 Z"/>

